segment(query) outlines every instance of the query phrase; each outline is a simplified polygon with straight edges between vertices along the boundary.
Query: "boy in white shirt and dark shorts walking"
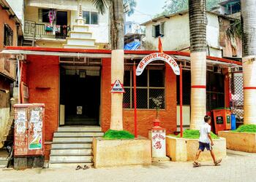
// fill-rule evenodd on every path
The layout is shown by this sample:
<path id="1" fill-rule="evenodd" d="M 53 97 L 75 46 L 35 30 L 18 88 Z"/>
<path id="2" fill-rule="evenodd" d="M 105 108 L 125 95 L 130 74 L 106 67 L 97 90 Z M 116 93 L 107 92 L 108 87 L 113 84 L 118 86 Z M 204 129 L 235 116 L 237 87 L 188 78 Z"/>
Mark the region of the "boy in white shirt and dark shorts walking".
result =
<path id="1" fill-rule="evenodd" d="M 204 116 L 205 123 L 200 127 L 200 138 L 199 138 L 199 148 L 197 151 L 197 154 L 195 156 L 195 161 L 193 162 L 193 165 L 195 167 L 200 166 L 200 163 L 197 161 L 201 151 L 204 151 L 206 148 L 208 151 L 211 152 L 211 157 L 214 160 L 214 165 L 218 165 L 220 162 L 222 162 L 222 159 L 216 159 L 214 151 L 212 150 L 212 147 L 214 145 L 214 142 L 211 139 L 211 117 L 210 116 Z"/>

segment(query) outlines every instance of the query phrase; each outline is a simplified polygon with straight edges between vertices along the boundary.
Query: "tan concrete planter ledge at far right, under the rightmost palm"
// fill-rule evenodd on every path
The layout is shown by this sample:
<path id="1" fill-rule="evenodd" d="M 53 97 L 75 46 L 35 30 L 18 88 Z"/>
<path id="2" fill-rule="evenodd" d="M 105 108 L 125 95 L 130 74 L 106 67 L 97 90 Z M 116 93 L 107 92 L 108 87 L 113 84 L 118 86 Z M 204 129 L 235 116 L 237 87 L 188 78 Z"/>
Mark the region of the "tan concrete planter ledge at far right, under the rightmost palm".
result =
<path id="1" fill-rule="evenodd" d="M 256 133 L 221 131 L 219 136 L 226 138 L 227 149 L 256 153 Z"/>

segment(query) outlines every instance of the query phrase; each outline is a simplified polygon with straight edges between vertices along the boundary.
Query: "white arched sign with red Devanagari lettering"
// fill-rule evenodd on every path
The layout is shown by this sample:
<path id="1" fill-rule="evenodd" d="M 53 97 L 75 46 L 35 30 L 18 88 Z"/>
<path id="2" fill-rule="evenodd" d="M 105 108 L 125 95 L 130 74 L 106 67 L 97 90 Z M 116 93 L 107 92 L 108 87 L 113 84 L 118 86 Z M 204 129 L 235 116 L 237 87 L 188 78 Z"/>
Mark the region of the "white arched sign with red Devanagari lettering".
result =
<path id="1" fill-rule="evenodd" d="M 150 55 L 147 55 L 142 60 L 140 60 L 140 63 L 138 64 L 138 67 L 136 69 L 136 76 L 140 76 L 140 74 L 143 73 L 146 66 L 149 63 L 153 62 L 154 60 L 163 60 L 163 61 L 165 61 L 165 63 L 170 65 L 171 68 L 173 68 L 174 74 L 180 75 L 180 70 L 178 68 L 178 64 L 176 63 L 176 61 L 172 57 L 170 57 L 170 55 L 167 55 L 167 54 L 162 53 L 162 52 L 155 52 L 155 53 L 152 53 Z"/>

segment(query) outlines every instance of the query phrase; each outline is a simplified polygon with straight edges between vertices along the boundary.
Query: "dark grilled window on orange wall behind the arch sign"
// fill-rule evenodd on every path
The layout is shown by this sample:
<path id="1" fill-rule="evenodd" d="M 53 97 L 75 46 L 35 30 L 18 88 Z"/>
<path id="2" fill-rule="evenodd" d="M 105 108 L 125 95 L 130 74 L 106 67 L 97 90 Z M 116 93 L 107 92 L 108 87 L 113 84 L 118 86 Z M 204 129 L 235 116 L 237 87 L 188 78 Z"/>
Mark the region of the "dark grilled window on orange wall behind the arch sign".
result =
<path id="1" fill-rule="evenodd" d="M 151 98 L 159 96 L 162 96 L 160 108 L 165 108 L 165 67 L 146 68 L 136 79 L 137 108 L 154 109 L 156 106 Z M 134 108 L 132 68 L 124 71 L 124 90 L 123 108 Z"/>

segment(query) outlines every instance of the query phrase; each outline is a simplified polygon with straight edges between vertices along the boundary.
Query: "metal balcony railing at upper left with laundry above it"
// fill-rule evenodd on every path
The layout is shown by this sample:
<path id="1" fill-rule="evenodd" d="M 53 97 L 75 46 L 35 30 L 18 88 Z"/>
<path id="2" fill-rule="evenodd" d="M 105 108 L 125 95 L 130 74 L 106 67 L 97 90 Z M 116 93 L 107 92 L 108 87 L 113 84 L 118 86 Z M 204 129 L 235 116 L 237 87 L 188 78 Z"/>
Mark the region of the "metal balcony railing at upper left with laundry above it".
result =
<path id="1" fill-rule="evenodd" d="M 28 20 L 24 23 L 24 35 L 31 38 L 66 39 L 69 29 L 67 25 L 56 25 L 54 30 L 54 28 L 48 27 L 43 23 Z"/>

